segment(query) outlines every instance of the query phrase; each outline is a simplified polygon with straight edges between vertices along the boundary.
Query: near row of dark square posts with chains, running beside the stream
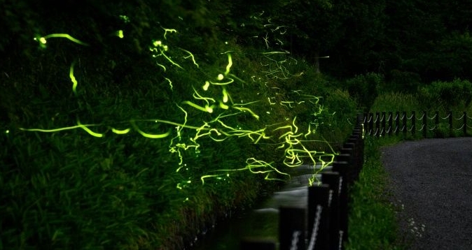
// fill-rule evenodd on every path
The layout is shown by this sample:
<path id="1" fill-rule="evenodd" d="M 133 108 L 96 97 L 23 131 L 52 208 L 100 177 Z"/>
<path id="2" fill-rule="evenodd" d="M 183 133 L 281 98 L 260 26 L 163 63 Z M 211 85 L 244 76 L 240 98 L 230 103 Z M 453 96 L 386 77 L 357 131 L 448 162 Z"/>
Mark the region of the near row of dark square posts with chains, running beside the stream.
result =
<path id="1" fill-rule="evenodd" d="M 306 208 L 280 207 L 279 250 L 344 249 L 349 232 L 349 189 L 363 166 L 363 115 L 335 156 L 333 168 L 321 173 L 319 186 L 308 186 Z M 242 250 L 275 250 L 277 243 L 242 240 Z"/>

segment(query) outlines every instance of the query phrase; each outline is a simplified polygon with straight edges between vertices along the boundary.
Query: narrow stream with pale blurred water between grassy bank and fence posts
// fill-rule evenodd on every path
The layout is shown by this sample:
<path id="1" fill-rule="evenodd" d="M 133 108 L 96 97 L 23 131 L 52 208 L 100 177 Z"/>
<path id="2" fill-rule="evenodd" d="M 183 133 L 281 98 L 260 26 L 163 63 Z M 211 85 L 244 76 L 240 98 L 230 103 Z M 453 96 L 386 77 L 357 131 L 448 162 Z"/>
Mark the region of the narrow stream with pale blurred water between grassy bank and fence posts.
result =
<path id="1" fill-rule="evenodd" d="M 193 250 L 240 250 L 240 241 L 245 237 L 278 242 L 279 207 L 307 206 L 307 186 L 313 172 L 313 166 L 298 167 L 284 188 L 251 211 L 220 222 L 198 240 Z"/>

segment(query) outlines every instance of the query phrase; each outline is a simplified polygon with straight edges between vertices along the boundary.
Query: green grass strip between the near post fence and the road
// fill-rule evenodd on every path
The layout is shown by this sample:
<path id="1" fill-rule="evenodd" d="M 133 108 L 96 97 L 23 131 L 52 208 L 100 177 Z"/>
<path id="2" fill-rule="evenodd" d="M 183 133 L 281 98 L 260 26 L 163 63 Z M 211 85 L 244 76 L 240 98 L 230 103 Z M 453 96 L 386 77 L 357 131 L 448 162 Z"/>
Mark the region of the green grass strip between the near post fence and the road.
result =
<path id="1" fill-rule="evenodd" d="M 396 207 L 390 203 L 388 176 L 379 148 L 398 138 L 366 138 L 365 163 L 359 181 L 352 186 L 349 242 L 354 249 L 404 249 L 398 237 Z"/>

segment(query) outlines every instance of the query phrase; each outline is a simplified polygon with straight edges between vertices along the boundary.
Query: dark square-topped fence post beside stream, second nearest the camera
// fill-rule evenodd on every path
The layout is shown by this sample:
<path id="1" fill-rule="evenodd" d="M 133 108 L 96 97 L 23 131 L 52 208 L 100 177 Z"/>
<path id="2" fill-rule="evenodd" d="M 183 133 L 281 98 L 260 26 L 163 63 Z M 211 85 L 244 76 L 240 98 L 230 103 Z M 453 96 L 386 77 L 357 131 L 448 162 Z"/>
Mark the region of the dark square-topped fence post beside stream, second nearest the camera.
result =
<path id="1" fill-rule="evenodd" d="M 305 249 L 305 209 L 300 207 L 279 208 L 280 250 Z"/>

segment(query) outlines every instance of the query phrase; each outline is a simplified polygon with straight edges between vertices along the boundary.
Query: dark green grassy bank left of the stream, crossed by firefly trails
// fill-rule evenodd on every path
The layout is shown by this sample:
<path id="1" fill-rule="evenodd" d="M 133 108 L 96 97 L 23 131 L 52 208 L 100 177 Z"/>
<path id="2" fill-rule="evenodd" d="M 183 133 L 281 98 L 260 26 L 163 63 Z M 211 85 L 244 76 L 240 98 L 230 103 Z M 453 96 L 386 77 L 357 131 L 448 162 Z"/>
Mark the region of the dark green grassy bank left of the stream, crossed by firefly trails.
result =
<path id="1" fill-rule="evenodd" d="M 3 3 L 0 248 L 180 249 L 349 135 L 270 17 L 240 45 L 222 4 L 172 2 Z"/>

